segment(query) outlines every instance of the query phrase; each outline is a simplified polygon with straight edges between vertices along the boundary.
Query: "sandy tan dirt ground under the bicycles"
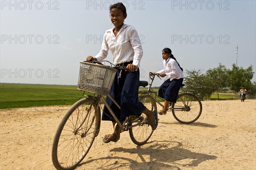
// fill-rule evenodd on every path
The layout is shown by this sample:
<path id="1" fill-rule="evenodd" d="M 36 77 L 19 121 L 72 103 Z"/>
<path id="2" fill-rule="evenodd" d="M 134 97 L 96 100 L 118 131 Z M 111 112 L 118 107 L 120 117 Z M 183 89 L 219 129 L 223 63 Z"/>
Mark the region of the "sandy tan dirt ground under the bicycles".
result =
<path id="1" fill-rule="evenodd" d="M 133 144 L 128 132 L 103 144 L 112 132 L 102 122 L 99 136 L 76 170 L 255 170 L 256 100 L 204 101 L 194 123 L 177 122 L 169 112 L 148 143 Z M 54 170 L 52 139 L 70 106 L 0 111 L 0 169 Z"/>

